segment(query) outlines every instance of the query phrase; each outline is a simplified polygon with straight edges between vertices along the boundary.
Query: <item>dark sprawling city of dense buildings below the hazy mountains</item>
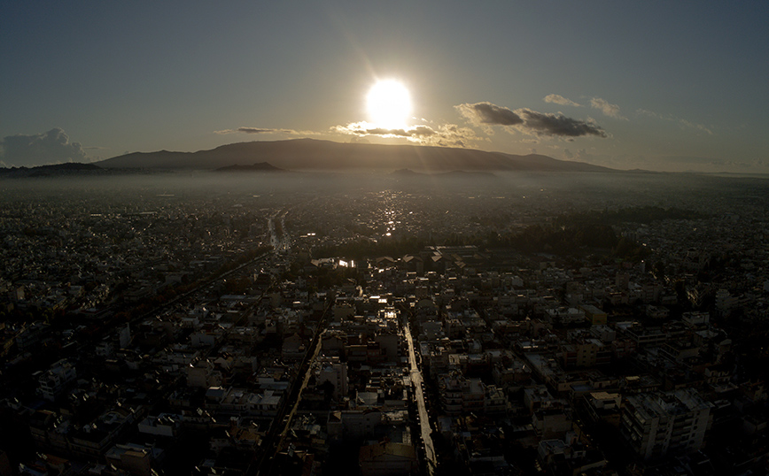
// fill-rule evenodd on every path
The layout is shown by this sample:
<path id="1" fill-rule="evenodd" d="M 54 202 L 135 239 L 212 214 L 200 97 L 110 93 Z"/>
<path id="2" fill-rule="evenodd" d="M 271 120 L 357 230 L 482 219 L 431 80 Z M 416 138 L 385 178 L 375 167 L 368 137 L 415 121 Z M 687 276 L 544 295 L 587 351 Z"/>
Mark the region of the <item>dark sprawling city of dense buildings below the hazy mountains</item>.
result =
<path id="1" fill-rule="evenodd" d="M 769 189 L 0 179 L 0 474 L 765 474 Z"/>

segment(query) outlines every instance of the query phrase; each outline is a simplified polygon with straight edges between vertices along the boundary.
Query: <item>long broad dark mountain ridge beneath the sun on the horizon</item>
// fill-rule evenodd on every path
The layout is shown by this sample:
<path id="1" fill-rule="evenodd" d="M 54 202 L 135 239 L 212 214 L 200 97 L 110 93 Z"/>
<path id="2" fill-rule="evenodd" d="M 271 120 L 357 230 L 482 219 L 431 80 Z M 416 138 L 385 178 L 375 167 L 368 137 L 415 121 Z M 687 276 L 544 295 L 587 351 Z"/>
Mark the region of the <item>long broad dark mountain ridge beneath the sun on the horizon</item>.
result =
<path id="1" fill-rule="evenodd" d="M 608 172 L 612 169 L 531 154 L 517 156 L 484 150 L 416 145 L 341 143 L 315 139 L 237 142 L 198 152 L 135 152 L 96 164 L 105 168 L 214 170 L 237 164 L 269 162 L 289 170 L 362 171 L 411 169 L 449 171 Z"/>

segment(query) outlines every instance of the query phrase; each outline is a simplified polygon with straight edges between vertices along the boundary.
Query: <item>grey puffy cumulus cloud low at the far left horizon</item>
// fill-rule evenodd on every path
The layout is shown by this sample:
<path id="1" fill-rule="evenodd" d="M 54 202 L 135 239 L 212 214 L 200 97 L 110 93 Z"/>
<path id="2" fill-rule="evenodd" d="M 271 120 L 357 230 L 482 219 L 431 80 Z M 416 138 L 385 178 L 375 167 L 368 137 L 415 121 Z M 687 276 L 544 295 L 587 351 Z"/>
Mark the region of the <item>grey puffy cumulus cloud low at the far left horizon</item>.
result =
<path id="1" fill-rule="evenodd" d="M 59 127 L 33 135 L 6 135 L 0 141 L 5 164 L 34 166 L 60 164 L 62 162 L 87 161 L 80 142 L 69 142 L 69 137 Z"/>

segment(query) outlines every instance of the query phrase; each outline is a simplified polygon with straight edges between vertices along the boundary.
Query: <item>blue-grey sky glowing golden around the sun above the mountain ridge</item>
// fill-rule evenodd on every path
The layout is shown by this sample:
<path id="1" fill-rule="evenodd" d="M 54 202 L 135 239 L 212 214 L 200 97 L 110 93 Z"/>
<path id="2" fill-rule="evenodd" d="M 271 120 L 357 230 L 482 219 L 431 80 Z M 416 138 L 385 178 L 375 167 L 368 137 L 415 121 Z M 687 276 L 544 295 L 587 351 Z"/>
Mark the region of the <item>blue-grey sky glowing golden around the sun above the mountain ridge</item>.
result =
<path id="1" fill-rule="evenodd" d="M 7 0 L 0 166 L 311 137 L 769 173 L 766 25 L 765 1 Z M 367 109 L 384 80 L 400 122 Z"/>

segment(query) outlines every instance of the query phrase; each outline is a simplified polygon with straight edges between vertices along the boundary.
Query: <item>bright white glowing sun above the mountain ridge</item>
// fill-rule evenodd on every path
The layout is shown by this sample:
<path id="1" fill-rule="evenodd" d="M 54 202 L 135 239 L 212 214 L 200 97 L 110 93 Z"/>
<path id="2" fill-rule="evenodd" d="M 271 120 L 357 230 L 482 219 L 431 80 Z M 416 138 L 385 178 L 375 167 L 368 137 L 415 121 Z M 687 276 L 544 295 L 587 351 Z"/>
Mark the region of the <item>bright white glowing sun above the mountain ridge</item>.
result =
<path id="1" fill-rule="evenodd" d="M 402 129 L 411 114 L 411 95 L 400 81 L 377 81 L 366 96 L 366 109 L 377 127 Z"/>

